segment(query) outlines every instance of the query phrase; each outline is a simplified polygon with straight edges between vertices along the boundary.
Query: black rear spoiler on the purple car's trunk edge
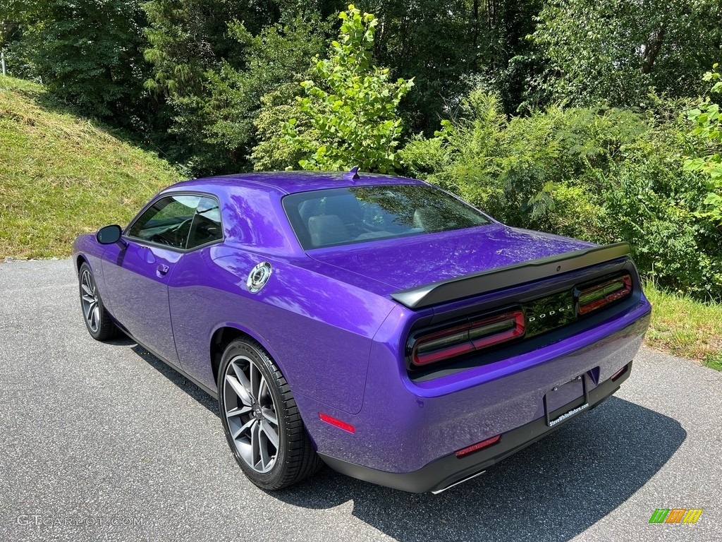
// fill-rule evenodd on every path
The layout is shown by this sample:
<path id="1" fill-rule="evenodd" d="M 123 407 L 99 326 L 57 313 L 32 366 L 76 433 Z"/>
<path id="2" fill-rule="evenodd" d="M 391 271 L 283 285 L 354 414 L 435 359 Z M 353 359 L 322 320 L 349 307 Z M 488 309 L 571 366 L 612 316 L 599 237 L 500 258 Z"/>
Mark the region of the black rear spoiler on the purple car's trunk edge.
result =
<path id="1" fill-rule="evenodd" d="M 564 252 L 546 258 L 532 259 L 521 264 L 497 267 L 463 277 L 441 280 L 438 283 L 401 290 L 392 293 L 391 297 L 409 309 L 422 309 L 425 306 L 476 296 L 479 293 L 551 277 L 557 273 L 609 262 L 612 259 L 627 256 L 629 253 L 629 243 L 594 246 L 591 249 Z"/>

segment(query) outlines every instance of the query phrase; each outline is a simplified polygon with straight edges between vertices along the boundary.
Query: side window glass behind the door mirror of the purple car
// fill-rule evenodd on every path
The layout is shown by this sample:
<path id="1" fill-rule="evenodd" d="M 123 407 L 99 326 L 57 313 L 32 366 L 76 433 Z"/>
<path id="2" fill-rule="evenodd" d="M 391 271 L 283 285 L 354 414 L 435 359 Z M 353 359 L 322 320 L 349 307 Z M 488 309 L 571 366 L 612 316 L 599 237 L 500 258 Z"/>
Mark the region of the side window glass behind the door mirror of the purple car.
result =
<path id="1" fill-rule="evenodd" d="M 162 197 L 131 225 L 128 236 L 175 249 L 217 241 L 223 238 L 218 202 L 205 196 Z"/>

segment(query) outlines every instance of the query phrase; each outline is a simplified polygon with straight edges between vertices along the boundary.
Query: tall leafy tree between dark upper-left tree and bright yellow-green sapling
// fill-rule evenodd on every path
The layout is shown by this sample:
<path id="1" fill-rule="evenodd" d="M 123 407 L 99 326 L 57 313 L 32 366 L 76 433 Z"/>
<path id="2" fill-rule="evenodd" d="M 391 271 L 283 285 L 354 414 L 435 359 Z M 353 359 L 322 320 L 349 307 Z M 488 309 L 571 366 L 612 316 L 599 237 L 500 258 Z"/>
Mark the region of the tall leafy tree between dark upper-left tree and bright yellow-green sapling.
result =
<path id="1" fill-rule="evenodd" d="M 306 64 L 319 50 L 315 36 L 323 35 L 323 30 L 318 28 L 308 31 L 308 43 L 292 43 L 296 36 L 301 39 L 303 26 L 295 25 L 295 17 L 309 24 L 318 22 L 318 14 L 328 13 L 336 1 L 153 0 L 144 4 L 150 42 L 145 55 L 153 66 L 147 88 L 167 104 L 166 137 L 194 174 L 251 167 L 248 153 L 256 142 L 253 119 L 262 93 L 274 90 L 272 81 L 292 80 L 299 56 L 308 55 L 303 59 Z M 264 51 L 266 43 L 269 51 Z M 269 86 L 261 89 L 264 84 Z"/>

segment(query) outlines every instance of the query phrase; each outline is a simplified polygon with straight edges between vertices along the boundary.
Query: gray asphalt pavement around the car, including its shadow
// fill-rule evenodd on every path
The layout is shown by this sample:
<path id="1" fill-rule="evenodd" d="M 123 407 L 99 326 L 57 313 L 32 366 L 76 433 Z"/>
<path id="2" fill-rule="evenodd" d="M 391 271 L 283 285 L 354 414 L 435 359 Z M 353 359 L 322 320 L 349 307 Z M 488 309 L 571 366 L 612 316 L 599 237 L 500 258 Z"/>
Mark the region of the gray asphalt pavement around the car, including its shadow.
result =
<path id="1" fill-rule="evenodd" d="M 0 264 L 1 541 L 722 540 L 722 374 L 650 350 L 622 390 L 443 494 L 329 469 L 265 493 L 217 406 L 129 340 L 96 343 L 68 260 Z M 702 508 L 650 525 L 656 508 Z"/>

